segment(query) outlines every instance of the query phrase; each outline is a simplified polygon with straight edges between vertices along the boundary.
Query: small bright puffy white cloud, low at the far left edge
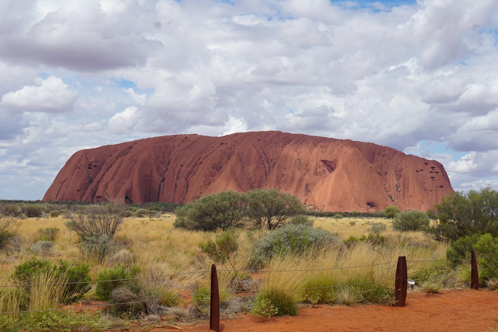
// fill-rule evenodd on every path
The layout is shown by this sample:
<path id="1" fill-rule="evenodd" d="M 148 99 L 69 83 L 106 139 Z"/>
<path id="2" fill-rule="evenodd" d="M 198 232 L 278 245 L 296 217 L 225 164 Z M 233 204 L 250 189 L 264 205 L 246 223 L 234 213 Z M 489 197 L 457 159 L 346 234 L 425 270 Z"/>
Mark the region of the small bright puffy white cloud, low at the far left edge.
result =
<path id="1" fill-rule="evenodd" d="M 1 97 L 0 106 L 49 113 L 72 111 L 78 94 L 60 78 L 50 76 L 39 86 L 24 86 Z"/>

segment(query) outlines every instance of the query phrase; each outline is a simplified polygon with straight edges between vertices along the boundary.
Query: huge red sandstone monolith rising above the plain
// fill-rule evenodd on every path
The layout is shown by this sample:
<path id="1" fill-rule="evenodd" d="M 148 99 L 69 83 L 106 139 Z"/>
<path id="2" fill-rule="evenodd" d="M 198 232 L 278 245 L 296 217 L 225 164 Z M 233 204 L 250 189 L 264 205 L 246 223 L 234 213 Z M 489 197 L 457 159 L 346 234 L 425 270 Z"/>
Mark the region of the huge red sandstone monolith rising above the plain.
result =
<path id="1" fill-rule="evenodd" d="M 171 135 L 76 152 L 43 201 L 185 204 L 225 190 L 277 188 L 323 211 L 423 210 L 453 192 L 439 162 L 373 143 L 245 132 Z"/>

